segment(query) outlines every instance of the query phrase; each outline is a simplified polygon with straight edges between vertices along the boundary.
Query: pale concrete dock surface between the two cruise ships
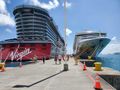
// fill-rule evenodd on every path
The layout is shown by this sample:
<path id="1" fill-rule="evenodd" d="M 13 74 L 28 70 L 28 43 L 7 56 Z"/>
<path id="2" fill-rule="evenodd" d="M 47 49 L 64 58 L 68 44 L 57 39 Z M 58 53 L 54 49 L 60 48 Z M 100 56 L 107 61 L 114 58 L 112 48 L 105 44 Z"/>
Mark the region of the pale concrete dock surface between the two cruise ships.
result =
<path id="1" fill-rule="evenodd" d="M 38 63 L 23 67 L 6 68 L 0 72 L 0 90 L 95 90 L 96 73 L 91 69 L 82 70 L 82 63 L 75 65 L 73 58 L 67 62 L 69 71 L 62 71 L 62 64 L 55 64 L 48 60 L 45 64 Z M 103 90 L 116 90 L 102 78 L 100 82 Z"/>

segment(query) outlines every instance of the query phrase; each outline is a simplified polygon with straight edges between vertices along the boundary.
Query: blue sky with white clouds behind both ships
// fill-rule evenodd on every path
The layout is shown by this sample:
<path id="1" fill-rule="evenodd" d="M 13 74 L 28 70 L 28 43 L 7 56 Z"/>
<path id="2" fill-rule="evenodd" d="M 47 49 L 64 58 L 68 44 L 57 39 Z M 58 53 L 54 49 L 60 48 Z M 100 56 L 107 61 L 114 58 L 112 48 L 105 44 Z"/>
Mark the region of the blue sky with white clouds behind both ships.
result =
<path id="1" fill-rule="evenodd" d="M 16 38 L 13 10 L 36 5 L 48 10 L 64 37 L 64 0 L 0 0 L 0 41 Z M 120 0 L 67 0 L 67 52 L 73 52 L 75 34 L 86 29 L 107 33 L 111 42 L 101 52 L 120 52 Z"/>

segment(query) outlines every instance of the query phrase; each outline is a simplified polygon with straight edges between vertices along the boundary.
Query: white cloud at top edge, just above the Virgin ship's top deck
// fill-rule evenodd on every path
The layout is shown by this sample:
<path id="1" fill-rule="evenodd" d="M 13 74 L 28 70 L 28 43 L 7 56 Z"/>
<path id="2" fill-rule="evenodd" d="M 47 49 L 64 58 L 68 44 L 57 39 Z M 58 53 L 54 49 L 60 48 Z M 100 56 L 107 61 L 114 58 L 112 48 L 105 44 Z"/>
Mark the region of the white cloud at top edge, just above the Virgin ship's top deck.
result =
<path id="1" fill-rule="evenodd" d="M 57 8 L 59 6 L 58 0 L 49 1 L 48 3 L 42 3 L 39 0 L 25 0 L 25 2 L 48 10 Z"/>

